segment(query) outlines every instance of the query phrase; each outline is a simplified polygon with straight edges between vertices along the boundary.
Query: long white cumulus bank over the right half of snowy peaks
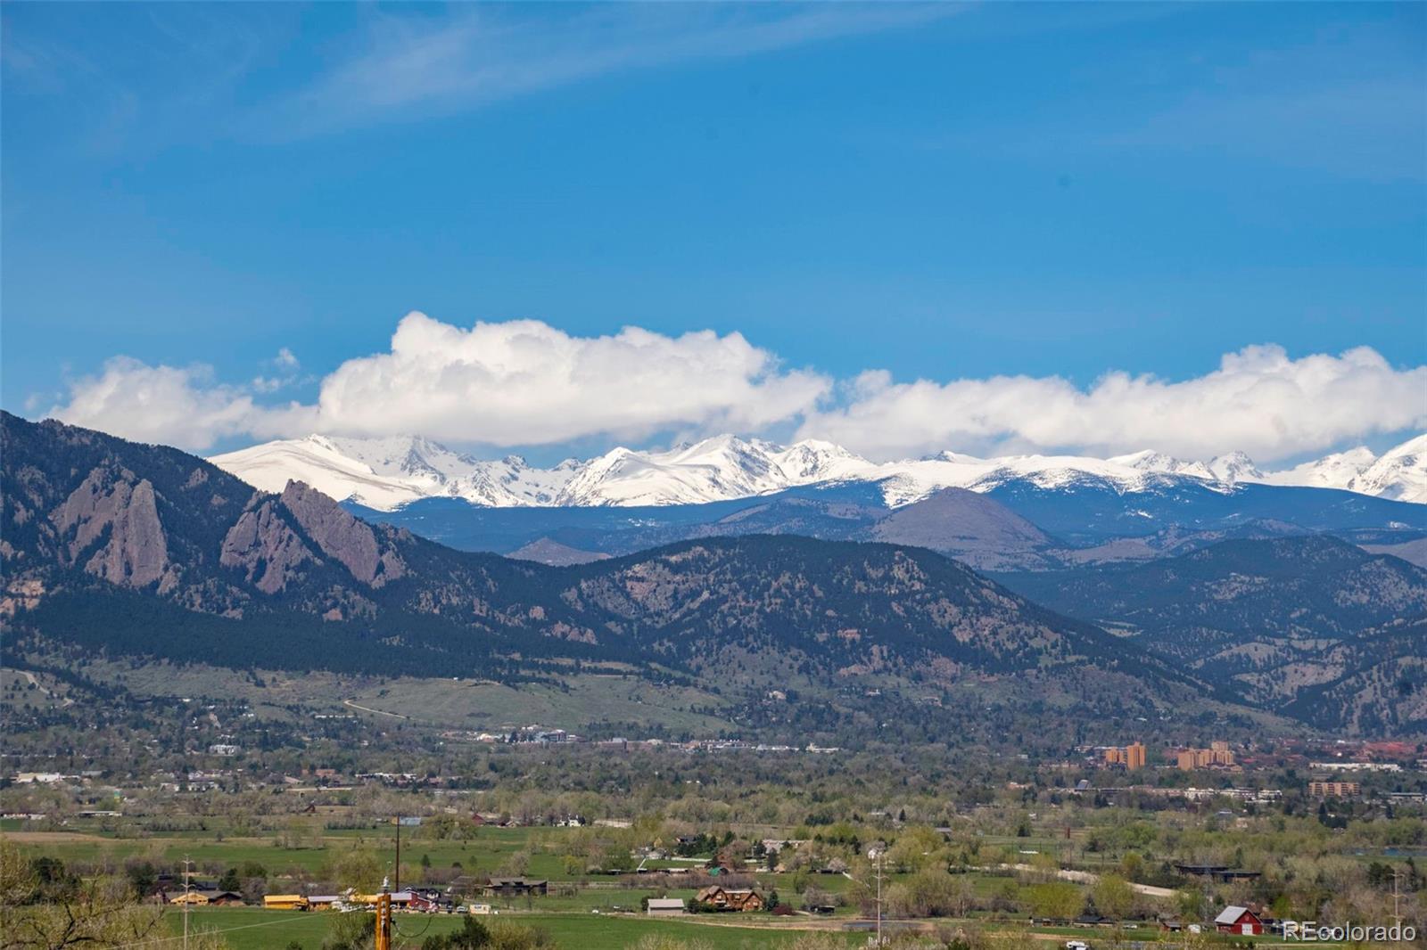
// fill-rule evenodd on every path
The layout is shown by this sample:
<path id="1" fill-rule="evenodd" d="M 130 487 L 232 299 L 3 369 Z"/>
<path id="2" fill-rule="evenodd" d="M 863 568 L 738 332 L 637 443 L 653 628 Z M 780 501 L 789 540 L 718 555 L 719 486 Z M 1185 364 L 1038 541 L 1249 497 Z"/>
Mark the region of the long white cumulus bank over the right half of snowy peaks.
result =
<path id="1" fill-rule="evenodd" d="M 845 402 L 809 414 L 801 435 L 879 458 L 1153 448 L 1187 458 L 1243 449 L 1274 461 L 1427 427 L 1427 367 L 1396 369 L 1368 347 L 1300 359 L 1277 345 L 1246 347 L 1179 382 L 1110 372 L 1087 389 L 1059 377 L 899 384 L 873 371 L 845 389 Z"/>

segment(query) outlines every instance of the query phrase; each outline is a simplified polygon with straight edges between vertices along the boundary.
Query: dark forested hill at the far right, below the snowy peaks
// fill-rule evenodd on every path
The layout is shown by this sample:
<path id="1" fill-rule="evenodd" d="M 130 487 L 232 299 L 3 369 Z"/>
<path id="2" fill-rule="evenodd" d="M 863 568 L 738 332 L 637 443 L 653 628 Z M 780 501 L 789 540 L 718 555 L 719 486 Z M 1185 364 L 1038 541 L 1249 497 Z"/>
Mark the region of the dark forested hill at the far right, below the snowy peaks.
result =
<path id="1" fill-rule="evenodd" d="M 1364 732 L 1427 723 L 1427 571 L 1331 536 L 997 575 L 1243 702 Z"/>

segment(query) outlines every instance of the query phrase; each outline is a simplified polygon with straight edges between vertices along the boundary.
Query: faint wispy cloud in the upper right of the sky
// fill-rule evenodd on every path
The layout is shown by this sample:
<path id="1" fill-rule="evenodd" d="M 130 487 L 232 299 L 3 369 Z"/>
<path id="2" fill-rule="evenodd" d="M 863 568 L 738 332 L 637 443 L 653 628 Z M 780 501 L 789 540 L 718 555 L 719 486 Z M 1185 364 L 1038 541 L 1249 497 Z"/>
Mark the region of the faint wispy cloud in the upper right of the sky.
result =
<path id="1" fill-rule="evenodd" d="M 1089 91 L 1079 108 L 1007 114 L 990 128 L 933 133 L 922 144 L 1012 158 L 1192 158 L 1371 183 L 1427 178 L 1427 63 L 1408 33 L 1344 27 L 1277 46 L 1224 37 L 1129 50 L 1080 70 L 1072 81 Z"/>

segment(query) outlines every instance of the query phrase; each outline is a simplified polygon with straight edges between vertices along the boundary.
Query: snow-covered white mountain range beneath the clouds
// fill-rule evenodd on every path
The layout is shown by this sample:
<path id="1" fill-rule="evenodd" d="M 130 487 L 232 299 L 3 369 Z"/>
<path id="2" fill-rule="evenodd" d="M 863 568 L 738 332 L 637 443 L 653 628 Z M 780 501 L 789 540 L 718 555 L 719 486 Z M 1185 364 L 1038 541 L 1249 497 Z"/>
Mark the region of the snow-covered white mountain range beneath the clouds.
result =
<path id="1" fill-rule="evenodd" d="M 875 482 L 890 506 L 940 488 L 992 491 L 1007 482 L 1055 489 L 1096 484 L 1134 494 L 1192 481 L 1232 492 L 1241 482 L 1343 488 L 1427 504 L 1427 436 L 1373 456 L 1366 448 L 1329 455 L 1281 472 L 1261 472 L 1243 452 L 1209 464 L 1159 452 L 1107 459 L 1077 455 L 976 458 L 942 452 L 922 459 L 872 462 L 831 442 L 782 446 L 719 435 L 666 452 L 616 448 L 579 462 L 534 468 L 519 456 L 482 461 L 417 436 L 310 435 L 254 445 L 211 459 L 264 491 L 300 479 L 332 498 L 392 511 L 422 498 L 474 505 L 644 506 L 698 505 L 786 491 L 801 485 Z"/>

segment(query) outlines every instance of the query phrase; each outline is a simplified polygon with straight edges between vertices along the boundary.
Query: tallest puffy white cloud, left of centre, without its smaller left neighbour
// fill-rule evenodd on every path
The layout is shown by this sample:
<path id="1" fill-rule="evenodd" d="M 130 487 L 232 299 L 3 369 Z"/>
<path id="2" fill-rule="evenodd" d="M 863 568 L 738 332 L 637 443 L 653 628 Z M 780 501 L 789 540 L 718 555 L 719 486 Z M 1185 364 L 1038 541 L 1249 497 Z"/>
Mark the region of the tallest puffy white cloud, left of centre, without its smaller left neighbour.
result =
<path id="1" fill-rule="evenodd" d="M 391 352 L 350 359 L 323 381 L 318 418 L 332 432 L 497 445 L 634 439 L 669 428 L 762 429 L 808 411 L 829 387 L 782 371 L 741 334 L 626 327 L 571 337 L 532 320 L 462 330 L 412 312 Z"/>

